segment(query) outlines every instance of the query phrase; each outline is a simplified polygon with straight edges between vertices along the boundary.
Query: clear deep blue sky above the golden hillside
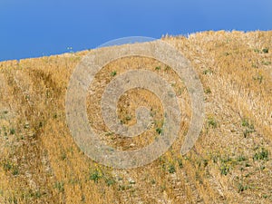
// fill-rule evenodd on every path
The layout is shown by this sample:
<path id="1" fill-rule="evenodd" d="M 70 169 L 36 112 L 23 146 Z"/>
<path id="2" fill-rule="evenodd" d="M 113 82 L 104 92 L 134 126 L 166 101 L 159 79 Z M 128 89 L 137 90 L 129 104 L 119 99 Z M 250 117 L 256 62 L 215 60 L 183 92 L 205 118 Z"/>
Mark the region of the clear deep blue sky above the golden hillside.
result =
<path id="1" fill-rule="evenodd" d="M 272 0 L 0 0 L 0 61 L 221 29 L 272 30 Z"/>

